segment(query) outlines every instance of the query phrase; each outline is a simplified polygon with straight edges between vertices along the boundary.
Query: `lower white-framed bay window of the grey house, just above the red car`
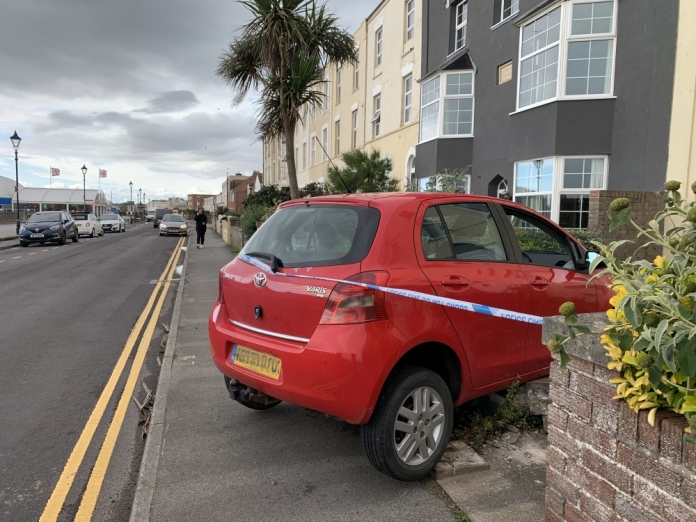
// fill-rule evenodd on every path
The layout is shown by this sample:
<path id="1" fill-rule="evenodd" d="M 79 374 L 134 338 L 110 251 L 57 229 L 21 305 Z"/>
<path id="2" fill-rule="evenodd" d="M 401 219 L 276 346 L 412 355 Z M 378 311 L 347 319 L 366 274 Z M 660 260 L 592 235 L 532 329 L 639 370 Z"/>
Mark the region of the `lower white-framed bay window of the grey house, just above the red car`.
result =
<path id="1" fill-rule="evenodd" d="M 587 228 L 590 191 L 604 190 L 606 156 L 557 156 L 515 163 L 513 199 L 564 228 Z"/>

